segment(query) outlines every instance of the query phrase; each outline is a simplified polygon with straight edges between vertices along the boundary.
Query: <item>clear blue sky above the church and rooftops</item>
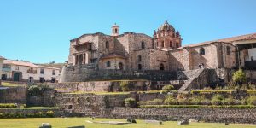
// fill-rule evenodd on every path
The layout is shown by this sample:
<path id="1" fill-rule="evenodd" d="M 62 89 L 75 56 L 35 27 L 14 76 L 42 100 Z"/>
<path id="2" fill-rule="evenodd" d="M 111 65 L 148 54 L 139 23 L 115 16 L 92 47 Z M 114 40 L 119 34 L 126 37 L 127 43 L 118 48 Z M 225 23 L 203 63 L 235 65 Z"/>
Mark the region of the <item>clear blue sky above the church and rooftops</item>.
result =
<path id="1" fill-rule="evenodd" d="M 167 18 L 184 44 L 256 32 L 256 0 L 1 0 L 0 55 L 67 61 L 69 40 L 84 33 L 152 36 Z"/>

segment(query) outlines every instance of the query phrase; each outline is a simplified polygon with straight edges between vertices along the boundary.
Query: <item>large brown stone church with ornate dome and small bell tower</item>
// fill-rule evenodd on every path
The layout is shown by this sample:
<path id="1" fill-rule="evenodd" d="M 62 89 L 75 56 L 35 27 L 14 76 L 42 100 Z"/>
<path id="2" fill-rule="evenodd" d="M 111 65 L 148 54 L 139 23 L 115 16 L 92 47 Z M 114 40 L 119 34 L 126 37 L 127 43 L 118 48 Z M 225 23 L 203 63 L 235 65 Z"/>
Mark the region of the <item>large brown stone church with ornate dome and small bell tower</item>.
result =
<path id="1" fill-rule="evenodd" d="M 182 46 L 182 37 L 166 20 L 153 37 L 143 33 L 84 34 L 70 42 L 68 63 L 88 65 L 98 69 L 117 70 L 194 70 L 238 67 L 236 45 L 232 44 L 256 34 L 224 38 L 200 44 Z"/>

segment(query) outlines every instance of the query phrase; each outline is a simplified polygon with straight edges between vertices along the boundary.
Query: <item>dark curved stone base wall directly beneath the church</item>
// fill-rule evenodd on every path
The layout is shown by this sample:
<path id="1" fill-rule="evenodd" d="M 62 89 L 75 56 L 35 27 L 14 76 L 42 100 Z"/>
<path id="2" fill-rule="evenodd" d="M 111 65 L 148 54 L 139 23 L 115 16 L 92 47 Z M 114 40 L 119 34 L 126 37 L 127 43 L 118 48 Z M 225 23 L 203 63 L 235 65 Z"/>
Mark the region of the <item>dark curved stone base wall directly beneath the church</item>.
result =
<path id="1" fill-rule="evenodd" d="M 62 68 L 60 83 L 117 79 L 175 80 L 177 79 L 177 72 L 159 70 L 96 70 L 94 67 L 69 66 Z"/>

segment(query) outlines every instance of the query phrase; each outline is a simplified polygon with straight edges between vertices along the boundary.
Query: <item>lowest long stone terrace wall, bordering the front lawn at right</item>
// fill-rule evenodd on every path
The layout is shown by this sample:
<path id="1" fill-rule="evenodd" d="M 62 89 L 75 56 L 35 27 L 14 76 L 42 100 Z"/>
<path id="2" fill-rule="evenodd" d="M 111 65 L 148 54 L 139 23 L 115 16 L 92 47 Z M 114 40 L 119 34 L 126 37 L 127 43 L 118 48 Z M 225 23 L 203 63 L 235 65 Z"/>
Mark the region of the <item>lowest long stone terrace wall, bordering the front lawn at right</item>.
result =
<path id="1" fill-rule="evenodd" d="M 118 119 L 199 119 L 205 122 L 256 124 L 256 109 L 237 108 L 114 108 L 102 115 Z"/>

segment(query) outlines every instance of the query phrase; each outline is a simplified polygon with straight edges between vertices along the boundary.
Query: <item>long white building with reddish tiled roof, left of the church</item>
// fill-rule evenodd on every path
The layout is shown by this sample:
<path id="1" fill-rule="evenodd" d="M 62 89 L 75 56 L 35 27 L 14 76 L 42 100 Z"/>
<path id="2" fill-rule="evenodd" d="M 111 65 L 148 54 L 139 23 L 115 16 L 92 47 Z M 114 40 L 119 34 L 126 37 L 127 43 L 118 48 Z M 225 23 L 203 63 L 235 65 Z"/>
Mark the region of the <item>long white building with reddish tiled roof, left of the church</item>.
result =
<path id="1" fill-rule="evenodd" d="M 60 69 L 55 67 L 38 66 L 28 61 L 3 61 L 3 80 L 22 82 L 56 82 Z"/>

